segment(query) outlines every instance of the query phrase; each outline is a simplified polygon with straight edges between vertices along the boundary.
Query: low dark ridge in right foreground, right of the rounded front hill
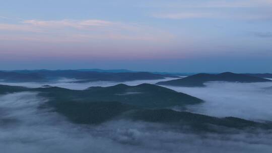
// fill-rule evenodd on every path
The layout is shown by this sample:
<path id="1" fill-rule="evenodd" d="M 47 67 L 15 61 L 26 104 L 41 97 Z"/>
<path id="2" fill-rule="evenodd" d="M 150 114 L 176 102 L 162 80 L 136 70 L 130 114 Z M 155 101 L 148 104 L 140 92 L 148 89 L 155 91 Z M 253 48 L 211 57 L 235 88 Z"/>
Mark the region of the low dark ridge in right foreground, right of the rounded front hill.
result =
<path id="1" fill-rule="evenodd" d="M 213 127 L 210 125 L 225 126 L 229 128 L 243 129 L 246 127 L 271 128 L 271 125 L 261 124 L 254 121 L 244 120 L 235 117 L 217 118 L 207 115 L 190 112 L 177 112 L 170 109 L 138 110 L 130 114 L 134 120 L 148 122 L 176 123 L 178 125 L 188 125 L 196 130 L 209 131 Z"/>

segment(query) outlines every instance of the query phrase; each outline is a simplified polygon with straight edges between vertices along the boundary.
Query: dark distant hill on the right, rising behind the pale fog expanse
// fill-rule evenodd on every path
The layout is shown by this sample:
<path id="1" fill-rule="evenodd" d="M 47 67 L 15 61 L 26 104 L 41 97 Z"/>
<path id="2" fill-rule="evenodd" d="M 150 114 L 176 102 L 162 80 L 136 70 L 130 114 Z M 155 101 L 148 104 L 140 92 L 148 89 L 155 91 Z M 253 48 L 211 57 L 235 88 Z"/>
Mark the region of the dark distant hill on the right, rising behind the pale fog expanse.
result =
<path id="1" fill-rule="evenodd" d="M 171 80 L 166 82 L 158 82 L 157 85 L 183 86 L 183 87 L 203 87 L 205 82 L 225 81 L 225 82 L 271 82 L 270 80 L 252 77 L 245 74 L 236 74 L 232 72 L 224 72 L 220 74 L 199 73 L 186 78 Z"/>

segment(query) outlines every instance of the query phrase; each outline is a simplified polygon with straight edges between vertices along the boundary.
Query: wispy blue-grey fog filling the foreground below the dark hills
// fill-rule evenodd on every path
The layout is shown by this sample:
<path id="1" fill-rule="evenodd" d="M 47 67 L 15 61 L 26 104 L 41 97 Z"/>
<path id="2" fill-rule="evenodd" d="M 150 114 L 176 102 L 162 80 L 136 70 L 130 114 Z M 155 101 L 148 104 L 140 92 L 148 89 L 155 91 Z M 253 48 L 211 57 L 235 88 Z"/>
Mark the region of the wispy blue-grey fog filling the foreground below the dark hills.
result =
<path id="1" fill-rule="evenodd" d="M 76 125 L 50 110 L 46 99 L 22 92 L 0 96 L 0 148 L 9 153 L 51 152 L 269 152 L 269 131 L 194 134 L 161 124 L 110 121 Z"/>

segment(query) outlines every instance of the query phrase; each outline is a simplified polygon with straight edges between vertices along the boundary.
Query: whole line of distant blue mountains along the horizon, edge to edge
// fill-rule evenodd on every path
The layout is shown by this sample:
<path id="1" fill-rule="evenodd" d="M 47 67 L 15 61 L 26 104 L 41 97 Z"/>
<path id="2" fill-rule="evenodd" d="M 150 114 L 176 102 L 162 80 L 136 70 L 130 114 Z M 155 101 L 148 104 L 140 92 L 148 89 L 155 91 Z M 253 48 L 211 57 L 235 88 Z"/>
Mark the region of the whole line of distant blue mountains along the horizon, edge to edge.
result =
<path id="1" fill-rule="evenodd" d="M 176 75 L 175 75 L 176 74 Z M 182 80 L 173 80 L 167 83 L 159 82 L 158 85 L 172 85 L 185 87 L 203 87 L 208 81 L 228 82 L 264 82 L 260 78 L 271 78 L 272 74 L 236 74 L 225 73 L 167 73 L 167 72 L 137 72 L 127 69 L 78 69 L 78 70 L 11 70 L 0 71 L 0 80 L 5 82 L 50 82 L 61 78 L 75 79 L 72 83 L 88 83 L 96 81 L 124 82 L 134 80 L 158 80 L 164 78 L 180 78 L 177 75 L 189 75 Z M 255 77 L 255 78 L 250 78 Z M 260 77 L 260 78 L 258 78 Z M 266 80 L 267 81 L 267 80 Z"/>

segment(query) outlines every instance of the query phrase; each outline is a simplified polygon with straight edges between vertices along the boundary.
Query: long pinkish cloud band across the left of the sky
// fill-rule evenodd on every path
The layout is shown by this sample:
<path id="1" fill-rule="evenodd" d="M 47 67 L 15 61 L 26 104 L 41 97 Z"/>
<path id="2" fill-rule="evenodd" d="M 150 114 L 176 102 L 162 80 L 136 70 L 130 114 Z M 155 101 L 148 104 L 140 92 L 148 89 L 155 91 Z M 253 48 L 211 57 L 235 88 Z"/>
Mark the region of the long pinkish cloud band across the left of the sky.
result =
<path id="1" fill-rule="evenodd" d="M 40 42 L 93 42 L 138 41 L 143 43 L 167 43 L 173 35 L 154 27 L 135 23 L 121 23 L 105 20 L 24 20 L 18 24 L 0 24 L 0 31 L 9 34 L 1 40 L 23 40 Z M 23 32 L 23 33 L 22 33 Z M 133 42 L 134 43 L 134 42 Z"/>

